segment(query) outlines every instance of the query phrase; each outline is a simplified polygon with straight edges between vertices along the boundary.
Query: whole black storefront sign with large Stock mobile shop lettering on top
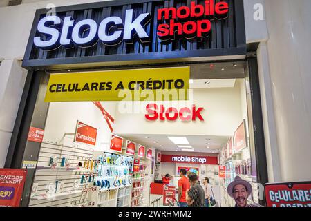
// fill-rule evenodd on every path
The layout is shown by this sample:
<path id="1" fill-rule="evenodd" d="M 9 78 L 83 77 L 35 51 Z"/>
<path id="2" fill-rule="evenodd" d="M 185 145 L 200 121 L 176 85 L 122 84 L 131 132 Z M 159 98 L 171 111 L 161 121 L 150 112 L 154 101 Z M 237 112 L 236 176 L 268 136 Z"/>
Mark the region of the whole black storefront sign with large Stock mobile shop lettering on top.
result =
<path id="1" fill-rule="evenodd" d="M 243 0 L 103 1 L 37 10 L 23 67 L 245 53 Z"/>

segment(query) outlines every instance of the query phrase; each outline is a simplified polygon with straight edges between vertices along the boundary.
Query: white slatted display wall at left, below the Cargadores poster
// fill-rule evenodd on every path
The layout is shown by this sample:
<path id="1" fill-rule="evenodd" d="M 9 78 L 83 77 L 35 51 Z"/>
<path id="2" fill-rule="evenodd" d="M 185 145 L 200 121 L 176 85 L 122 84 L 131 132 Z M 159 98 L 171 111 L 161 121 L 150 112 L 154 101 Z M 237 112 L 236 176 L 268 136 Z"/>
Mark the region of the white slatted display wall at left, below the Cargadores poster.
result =
<path id="1" fill-rule="evenodd" d="M 83 144 L 73 144 L 72 146 L 64 146 L 62 144 L 50 144 L 42 143 L 38 168 L 35 173 L 35 182 L 38 183 L 38 189 L 36 195 L 41 195 L 46 193 L 46 186 L 50 182 L 55 182 L 55 180 L 62 180 L 64 182 L 64 189 L 62 193 L 66 193 L 72 189 L 75 180 L 80 180 L 81 176 L 86 173 L 87 170 L 70 170 L 59 168 L 60 163 L 57 165 L 56 169 L 48 168 L 50 157 L 66 157 L 70 160 L 71 165 L 76 165 L 78 162 L 82 162 L 83 158 L 92 158 L 93 150 Z M 30 199 L 30 207 L 55 207 L 55 206 L 78 206 L 80 199 L 82 197 L 82 186 L 79 191 L 75 191 L 72 194 L 60 195 L 55 198 L 48 198 L 43 200 L 37 200 L 35 198 Z"/>

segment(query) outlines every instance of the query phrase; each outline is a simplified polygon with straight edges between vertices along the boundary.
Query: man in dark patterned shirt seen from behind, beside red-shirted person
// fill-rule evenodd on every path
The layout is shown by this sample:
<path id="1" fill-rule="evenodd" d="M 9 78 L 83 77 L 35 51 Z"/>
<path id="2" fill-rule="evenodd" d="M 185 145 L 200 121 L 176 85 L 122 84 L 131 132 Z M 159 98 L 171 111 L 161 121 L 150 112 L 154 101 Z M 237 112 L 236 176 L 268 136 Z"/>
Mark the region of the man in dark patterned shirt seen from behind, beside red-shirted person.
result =
<path id="1" fill-rule="evenodd" d="M 204 207 L 205 194 L 204 189 L 198 183 L 198 176 L 196 173 L 189 173 L 188 175 L 191 188 L 186 191 L 186 201 L 189 207 Z"/>

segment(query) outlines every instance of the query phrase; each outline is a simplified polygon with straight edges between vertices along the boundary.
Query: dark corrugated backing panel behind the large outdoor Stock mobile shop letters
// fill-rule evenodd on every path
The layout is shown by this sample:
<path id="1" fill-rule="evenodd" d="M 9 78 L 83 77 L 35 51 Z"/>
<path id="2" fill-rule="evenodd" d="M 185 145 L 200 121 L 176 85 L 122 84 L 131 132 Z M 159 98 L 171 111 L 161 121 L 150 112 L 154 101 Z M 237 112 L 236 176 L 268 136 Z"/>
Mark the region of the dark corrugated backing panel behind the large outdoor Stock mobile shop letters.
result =
<path id="1" fill-rule="evenodd" d="M 221 0 L 215 0 L 215 3 L 219 1 Z M 126 44 L 122 41 L 122 43 L 117 46 L 105 46 L 101 41 L 97 41 L 97 44 L 88 48 L 74 46 L 74 48 L 66 49 L 61 46 L 56 50 L 50 51 L 41 50 L 34 46 L 32 42 L 33 37 L 41 36 L 42 39 L 44 39 L 44 36 L 37 32 L 37 22 L 42 17 L 46 17 L 46 10 L 38 10 L 32 26 L 32 33 L 28 41 L 28 48 L 26 50 L 23 66 L 52 66 L 55 64 L 77 64 L 91 63 L 92 61 L 105 62 L 131 59 L 144 60 L 147 59 L 147 55 L 153 55 L 153 57 L 149 57 L 149 59 L 159 59 L 159 56 L 163 56 L 163 58 L 196 57 L 190 56 L 190 54 L 186 55 L 185 52 L 199 52 L 198 57 L 245 54 L 246 44 L 243 1 L 227 0 L 227 2 L 229 3 L 228 17 L 226 19 L 211 20 L 212 30 L 209 37 L 202 38 L 200 41 L 196 38 L 175 39 L 169 41 L 169 44 L 160 41 L 156 34 L 159 24 L 157 20 L 158 9 L 172 6 L 176 8 L 180 6 L 190 6 L 191 0 L 104 1 L 96 4 L 91 3 L 82 6 L 77 5 L 56 8 L 56 14 L 61 19 L 70 15 L 76 22 L 82 19 L 93 19 L 97 21 L 97 24 L 100 24 L 102 19 L 111 16 L 121 17 L 124 21 L 126 9 L 133 9 L 135 17 L 138 17 L 140 13 L 150 12 L 151 21 L 147 24 L 145 29 L 151 41 L 142 44 L 137 35 L 135 35 L 136 38 L 133 44 Z M 196 3 L 204 5 L 205 0 L 196 0 Z M 75 8 L 76 10 L 69 10 Z M 220 52 L 221 49 L 224 49 L 224 51 L 222 50 Z M 202 53 L 203 50 L 206 51 L 206 53 Z M 124 57 L 124 55 L 127 56 Z"/>

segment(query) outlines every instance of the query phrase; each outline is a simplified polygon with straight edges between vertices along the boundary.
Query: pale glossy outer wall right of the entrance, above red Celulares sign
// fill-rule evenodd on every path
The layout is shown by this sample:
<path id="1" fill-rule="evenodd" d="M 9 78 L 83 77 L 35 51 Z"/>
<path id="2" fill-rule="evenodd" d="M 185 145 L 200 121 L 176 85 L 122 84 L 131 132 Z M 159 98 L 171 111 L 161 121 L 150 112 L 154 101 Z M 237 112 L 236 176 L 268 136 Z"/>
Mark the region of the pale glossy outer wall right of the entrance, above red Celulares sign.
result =
<path id="1" fill-rule="evenodd" d="M 266 1 L 267 53 L 284 182 L 311 180 L 310 8 L 310 0 Z"/>

